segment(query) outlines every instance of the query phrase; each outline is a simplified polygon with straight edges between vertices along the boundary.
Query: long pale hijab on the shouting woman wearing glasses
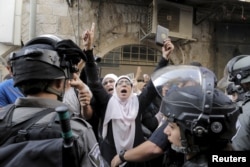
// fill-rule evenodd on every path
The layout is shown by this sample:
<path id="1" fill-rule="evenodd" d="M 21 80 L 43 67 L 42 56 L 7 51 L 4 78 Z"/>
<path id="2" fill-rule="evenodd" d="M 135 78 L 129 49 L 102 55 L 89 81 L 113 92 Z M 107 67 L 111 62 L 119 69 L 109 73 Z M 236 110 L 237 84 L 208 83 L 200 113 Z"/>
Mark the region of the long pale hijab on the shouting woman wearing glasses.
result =
<path id="1" fill-rule="evenodd" d="M 128 76 L 122 75 L 116 80 L 116 83 L 122 78 L 131 81 Z M 117 153 L 124 149 L 128 150 L 133 148 L 135 139 L 135 119 L 138 111 L 138 97 L 133 93 L 132 88 L 131 95 L 126 101 L 121 101 L 117 96 L 116 89 L 114 89 L 113 96 L 110 98 L 107 106 L 103 122 L 102 137 L 105 138 L 107 136 L 108 123 L 111 120 Z"/>

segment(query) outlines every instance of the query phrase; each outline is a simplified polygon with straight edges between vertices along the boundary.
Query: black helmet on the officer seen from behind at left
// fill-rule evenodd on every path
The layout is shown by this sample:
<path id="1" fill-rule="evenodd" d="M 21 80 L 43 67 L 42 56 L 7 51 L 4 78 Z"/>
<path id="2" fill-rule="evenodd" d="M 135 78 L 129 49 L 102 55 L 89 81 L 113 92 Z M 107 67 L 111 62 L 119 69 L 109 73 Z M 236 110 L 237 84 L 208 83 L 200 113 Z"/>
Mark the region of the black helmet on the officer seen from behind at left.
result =
<path id="1" fill-rule="evenodd" d="M 42 35 L 10 55 L 14 85 L 27 80 L 71 78 L 76 65 L 86 56 L 72 40 Z"/>

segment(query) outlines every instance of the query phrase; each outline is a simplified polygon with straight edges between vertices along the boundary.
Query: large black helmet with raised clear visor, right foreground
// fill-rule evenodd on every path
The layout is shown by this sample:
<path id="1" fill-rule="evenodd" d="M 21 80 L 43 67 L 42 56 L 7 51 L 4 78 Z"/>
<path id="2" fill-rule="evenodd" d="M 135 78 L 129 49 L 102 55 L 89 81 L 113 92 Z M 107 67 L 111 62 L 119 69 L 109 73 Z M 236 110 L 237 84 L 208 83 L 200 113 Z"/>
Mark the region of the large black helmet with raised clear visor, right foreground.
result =
<path id="1" fill-rule="evenodd" d="M 214 87 L 214 79 L 210 70 L 187 65 L 168 66 L 152 75 L 157 90 L 169 86 L 160 112 L 180 126 L 185 153 L 200 151 L 209 143 L 227 143 L 236 132 L 240 110 Z"/>

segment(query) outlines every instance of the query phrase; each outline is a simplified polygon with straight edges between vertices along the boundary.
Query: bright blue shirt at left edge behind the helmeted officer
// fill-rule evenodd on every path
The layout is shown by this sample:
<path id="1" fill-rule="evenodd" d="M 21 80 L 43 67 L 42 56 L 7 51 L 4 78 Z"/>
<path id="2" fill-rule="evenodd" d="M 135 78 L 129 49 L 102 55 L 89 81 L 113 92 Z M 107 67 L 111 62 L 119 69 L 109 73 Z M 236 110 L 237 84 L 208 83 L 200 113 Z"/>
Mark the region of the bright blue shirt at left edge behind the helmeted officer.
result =
<path id="1" fill-rule="evenodd" d="M 14 87 L 12 78 L 0 83 L 0 107 L 15 103 L 18 97 L 23 97 L 23 94 Z"/>

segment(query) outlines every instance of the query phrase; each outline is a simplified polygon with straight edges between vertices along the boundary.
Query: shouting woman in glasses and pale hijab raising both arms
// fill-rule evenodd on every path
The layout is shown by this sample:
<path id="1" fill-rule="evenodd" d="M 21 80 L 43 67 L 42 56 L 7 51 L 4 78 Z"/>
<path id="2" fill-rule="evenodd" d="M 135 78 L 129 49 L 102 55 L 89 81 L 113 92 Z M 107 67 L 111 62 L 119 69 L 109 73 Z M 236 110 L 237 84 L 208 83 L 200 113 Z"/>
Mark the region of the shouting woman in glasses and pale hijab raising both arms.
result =
<path id="1" fill-rule="evenodd" d="M 135 163 L 126 162 L 123 158 L 125 150 L 131 149 L 145 141 L 141 117 L 146 107 L 157 96 L 152 81 L 150 80 L 146 88 L 140 95 L 133 93 L 133 82 L 128 76 L 120 76 L 114 86 L 113 94 L 108 94 L 103 84 L 99 82 L 94 62 L 93 46 L 94 25 L 90 31 L 86 31 L 83 36 L 84 52 L 88 57 L 86 63 L 86 73 L 89 87 L 95 97 L 96 105 L 102 110 L 99 112 L 101 126 L 99 126 L 99 144 L 101 154 L 110 164 L 112 158 L 119 154 L 123 160 L 122 166 L 149 166 L 149 162 Z M 160 67 L 168 63 L 169 55 L 174 46 L 170 40 L 163 46 L 163 58 L 159 62 Z M 158 69 L 157 68 L 157 69 Z"/>

